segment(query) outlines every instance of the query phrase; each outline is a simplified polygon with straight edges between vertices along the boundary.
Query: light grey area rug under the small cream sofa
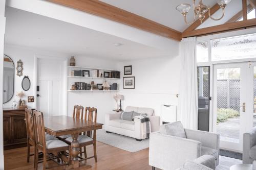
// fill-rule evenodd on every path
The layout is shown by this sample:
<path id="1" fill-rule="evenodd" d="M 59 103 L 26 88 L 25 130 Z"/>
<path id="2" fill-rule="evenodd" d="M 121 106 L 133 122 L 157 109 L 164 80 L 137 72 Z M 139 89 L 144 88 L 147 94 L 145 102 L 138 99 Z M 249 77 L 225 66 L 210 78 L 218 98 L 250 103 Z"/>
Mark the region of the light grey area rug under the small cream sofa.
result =
<path id="1" fill-rule="evenodd" d="M 98 130 L 96 134 L 97 141 L 129 152 L 138 152 L 149 147 L 149 139 L 136 141 L 135 138 L 106 133 L 104 129 Z"/>

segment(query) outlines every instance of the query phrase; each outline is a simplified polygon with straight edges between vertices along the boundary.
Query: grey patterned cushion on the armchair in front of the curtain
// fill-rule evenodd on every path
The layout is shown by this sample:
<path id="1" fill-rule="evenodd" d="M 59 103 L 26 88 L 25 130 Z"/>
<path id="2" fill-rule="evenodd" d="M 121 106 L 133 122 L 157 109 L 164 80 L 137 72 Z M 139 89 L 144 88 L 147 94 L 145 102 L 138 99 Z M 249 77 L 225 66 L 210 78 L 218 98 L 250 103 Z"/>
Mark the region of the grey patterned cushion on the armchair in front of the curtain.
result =
<path id="1" fill-rule="evenodd" d="M 160 126 L 160 133 L 165 135 L 187 138 L 181 122 L 174 122 Z"/>

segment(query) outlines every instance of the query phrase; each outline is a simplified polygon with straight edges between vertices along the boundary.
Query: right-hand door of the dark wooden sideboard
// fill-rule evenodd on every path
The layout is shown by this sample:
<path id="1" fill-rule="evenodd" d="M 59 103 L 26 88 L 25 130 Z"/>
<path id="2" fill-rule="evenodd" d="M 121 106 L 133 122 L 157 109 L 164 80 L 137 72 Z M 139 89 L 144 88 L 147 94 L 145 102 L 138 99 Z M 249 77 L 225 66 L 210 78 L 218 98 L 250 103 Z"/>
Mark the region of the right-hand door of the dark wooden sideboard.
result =
<path id="1" fill-rule="evenodd" d="M 20 143 L 27 141 L 27 130 L 25 123 L 25 116 L 12 117 L 12 139 L 13 143 Z"/>

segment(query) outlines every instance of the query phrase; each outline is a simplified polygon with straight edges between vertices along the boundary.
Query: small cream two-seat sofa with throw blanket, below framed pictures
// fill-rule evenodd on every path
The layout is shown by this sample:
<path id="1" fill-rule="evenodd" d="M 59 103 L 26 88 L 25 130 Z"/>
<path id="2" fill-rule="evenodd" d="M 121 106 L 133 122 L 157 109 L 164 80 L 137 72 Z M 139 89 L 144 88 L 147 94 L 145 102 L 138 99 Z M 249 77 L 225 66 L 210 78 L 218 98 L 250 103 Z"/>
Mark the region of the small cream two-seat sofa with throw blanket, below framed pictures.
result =
<path id="1" fill-rule="evenodd" d="M 135 111 L 137 113 L 146 113 L 150 118 L 151 132 L 159 131 L 160 116 L 154 115 L 154 109 L 127 106 L 126 112 Z M 135 119 L 134 123 L 129 120 L 121 119 L 122 113 L 112 113 L 105 115 L 105 131 L 113 132 L 124 136 L 133 137 L 141 141 L 141 122 L 140 119 Z"/>

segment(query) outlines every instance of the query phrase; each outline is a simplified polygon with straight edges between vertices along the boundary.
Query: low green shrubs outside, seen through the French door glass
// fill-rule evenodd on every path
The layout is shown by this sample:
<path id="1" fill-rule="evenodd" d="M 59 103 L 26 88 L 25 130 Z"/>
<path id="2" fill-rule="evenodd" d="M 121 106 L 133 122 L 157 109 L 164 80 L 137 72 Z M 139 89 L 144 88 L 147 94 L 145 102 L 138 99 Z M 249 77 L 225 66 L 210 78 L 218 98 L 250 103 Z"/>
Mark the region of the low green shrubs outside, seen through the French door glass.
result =
<path id="1" fill-rule="evenodd" d="M 239 117 L 240 112 L 233 109 L 218 109 L 217 110 L 217 123 L 226 122 L 228 118 Z"/>

